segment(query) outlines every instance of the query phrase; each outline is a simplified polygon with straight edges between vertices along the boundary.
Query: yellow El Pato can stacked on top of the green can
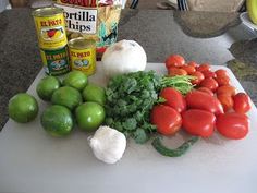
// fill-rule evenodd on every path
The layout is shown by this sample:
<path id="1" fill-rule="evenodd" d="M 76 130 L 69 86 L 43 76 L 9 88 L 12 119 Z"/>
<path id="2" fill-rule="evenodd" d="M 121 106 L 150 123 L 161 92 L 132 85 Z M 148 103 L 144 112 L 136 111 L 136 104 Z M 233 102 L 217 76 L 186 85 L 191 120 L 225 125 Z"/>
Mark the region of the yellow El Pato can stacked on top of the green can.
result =
<path id="1" fill-rule="evenodd" d="M 61 8 L 41 8 L 33 12 L 39 47 L 41 49 L 63 48 L 68 44 L 65 20 Z"/>

